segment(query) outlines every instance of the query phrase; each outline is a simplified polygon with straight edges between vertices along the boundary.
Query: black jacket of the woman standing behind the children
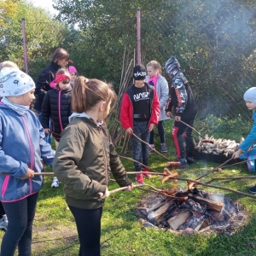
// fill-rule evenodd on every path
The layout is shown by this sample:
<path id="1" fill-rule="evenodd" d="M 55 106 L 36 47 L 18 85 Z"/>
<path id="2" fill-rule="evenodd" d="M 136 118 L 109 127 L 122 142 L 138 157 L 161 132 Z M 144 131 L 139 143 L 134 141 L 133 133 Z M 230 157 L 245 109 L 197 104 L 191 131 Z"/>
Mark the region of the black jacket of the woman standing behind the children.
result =
<path id="1" fill-rule="evenodd" d="M 60 68 L 61 66 L 51 61 L 49 66 L 45 67 L 43 72 L 40 73 L 35 91 L 37 100 L 35 102 L 34 108 L 36 110 L 41 111 L 45 93 L 52 89 L 49 84 L 55 79 L 55 75 Z"/>

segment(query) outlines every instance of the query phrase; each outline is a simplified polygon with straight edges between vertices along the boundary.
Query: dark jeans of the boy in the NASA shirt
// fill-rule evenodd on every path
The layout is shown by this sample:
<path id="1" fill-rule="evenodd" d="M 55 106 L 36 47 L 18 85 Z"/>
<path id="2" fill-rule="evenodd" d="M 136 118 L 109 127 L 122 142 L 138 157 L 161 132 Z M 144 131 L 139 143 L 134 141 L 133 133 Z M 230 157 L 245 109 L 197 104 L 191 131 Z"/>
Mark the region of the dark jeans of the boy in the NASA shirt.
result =
<path id="1" fill-rule="evenodd" d="M 149 143 L 150 133 L 148 132 L 148 121 L 134 121 L 133 133 L 137 135 L 144 142 Z M 141 143 L 136 137 L 131 137 L 131 148 L 133 154 L 133 160 L 137 160 L 143 165 L 148 166 L 149 160 L 149 148 L 145 143 Z M 133 162 L 135 171 L 140 172 L 143 168 L 140 164 Z"/>

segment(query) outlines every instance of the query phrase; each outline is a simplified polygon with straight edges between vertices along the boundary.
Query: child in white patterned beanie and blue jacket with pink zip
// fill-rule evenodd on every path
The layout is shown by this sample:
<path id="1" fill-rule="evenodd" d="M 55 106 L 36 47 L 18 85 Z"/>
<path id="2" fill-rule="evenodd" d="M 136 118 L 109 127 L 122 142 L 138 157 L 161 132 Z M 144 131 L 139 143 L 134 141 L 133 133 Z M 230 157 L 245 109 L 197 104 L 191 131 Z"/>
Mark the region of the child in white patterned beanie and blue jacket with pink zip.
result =
<path id="1" fill-rule="evenodd" d="M 2 256 L 32 255 L 32 222 L 43 188 L 41 158 L 52 166 L 55 151 L 44 141 L 44 129 L 29 106 L 35 84 L 31 77 L 15 67 L 0 72 L 0 201 L 9 218 L 3 236 Z"/>

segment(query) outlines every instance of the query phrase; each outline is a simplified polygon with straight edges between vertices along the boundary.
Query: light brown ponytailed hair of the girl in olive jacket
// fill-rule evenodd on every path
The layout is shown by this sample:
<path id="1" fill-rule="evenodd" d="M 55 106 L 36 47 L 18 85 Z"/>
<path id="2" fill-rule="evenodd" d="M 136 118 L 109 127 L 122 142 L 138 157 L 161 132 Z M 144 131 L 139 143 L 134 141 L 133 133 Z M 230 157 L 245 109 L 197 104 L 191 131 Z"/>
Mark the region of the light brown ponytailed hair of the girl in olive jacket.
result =
<path id="1" fill-rule="evenodd" d="M 72 108 L 74 112 L 83 113 L 100 101 L 113 102 L 116 94 L 111 84 L 106 84 L 98 79 L 77 77 L 73 82 Z"/>

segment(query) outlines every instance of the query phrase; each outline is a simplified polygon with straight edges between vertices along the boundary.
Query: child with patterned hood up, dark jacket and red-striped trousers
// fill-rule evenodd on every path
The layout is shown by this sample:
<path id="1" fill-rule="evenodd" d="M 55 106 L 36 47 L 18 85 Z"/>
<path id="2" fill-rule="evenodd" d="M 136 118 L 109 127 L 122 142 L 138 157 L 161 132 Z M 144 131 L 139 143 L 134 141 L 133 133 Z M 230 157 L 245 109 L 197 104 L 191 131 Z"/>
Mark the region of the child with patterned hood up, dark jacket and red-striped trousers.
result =
<path id="1" fill-rule="evenodd" d="M 176 148 L 177 159 L 182 166 L 186 166 L 187 163 L 194 163 L 195 141 L 192 129 L 181 123 L 180 120 L 193 127 L 197 105 L 188 80 L 183 75 L 177 59 L 172 56 L 166 62 L 165 68 L 166 73 L 172 78 L 171 99 L 166 106 L 166 116 L 171 117 L 172 107 L 174 107 L 176 116 L 172 127 L 172 139 Z M 185 138 L 186 148 L 183 146 L 183 137 Z"/>

